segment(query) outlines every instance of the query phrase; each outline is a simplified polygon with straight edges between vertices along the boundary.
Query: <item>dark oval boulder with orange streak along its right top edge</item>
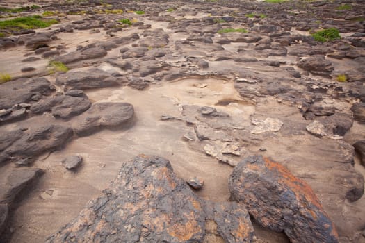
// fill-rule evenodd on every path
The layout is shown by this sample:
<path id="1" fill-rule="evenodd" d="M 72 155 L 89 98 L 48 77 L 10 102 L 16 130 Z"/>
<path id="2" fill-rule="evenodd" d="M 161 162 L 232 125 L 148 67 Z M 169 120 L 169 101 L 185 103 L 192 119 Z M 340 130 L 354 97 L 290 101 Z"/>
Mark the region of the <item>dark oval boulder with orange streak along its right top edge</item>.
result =
<path id="1" fill-rule="evenodd" d="M 229 176 L 229 192 L 259 224 L 284 231 L 291 242 L 339 242 L 311 187 L 277 162 L 245 158 Z"/>

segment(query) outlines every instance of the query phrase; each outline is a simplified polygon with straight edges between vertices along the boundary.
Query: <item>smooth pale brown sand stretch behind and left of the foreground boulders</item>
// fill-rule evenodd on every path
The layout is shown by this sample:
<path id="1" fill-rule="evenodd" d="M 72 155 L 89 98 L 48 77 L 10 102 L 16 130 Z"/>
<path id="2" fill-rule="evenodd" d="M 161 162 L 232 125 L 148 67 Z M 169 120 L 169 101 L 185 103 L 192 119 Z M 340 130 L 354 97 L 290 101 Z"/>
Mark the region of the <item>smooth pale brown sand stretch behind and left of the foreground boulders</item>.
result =
<path id="1" fill-rule="evenodd" d="M 249 117 L 255 108 L 240 99 L 234 83 L 218 78 L 184 78 L 151 85 L 144 91 L 113 87 L 87 91 L 86 94 L 95 102 L 132 103 L 134 126 L 79 137 L 62 151 L 35 162 L 35 166 L 46 173 L 15 211 L 13 225 L 16 231 L 12 242 L 42 242 L 50 233 L 74 219 L 90 199 L 107 187 L 122 162 L 140 153 L 167 158 L 178 176 L 186 181 L 193 176 L 204 178 L 203 189 L 197 191 L 204 199 L 229 199 L 227 183 L 233 168 L 202 151 L 191 149 L 183 136 L 193 133 L 194 129 L 186 121 L 162 121 L 161 116 L 181 117 L 182 106 L 186 105 L 211 106 L 241 124 L 250 123 Z M 83 157 L 83 166 L 77 173 L 66 171 L 61 164 L 63 158 L 74 154 Z M 52 215 L 52 221 L 49 221 L 49 215 Z"/>

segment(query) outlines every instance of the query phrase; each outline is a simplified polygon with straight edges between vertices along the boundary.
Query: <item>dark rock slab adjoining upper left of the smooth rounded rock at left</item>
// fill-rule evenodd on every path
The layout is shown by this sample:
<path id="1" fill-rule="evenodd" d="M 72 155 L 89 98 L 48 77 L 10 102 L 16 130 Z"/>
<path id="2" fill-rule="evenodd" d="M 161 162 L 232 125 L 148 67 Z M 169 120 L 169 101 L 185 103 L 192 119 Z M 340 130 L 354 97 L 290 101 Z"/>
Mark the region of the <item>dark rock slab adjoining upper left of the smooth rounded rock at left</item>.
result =
<path id="1" fill-rule="evenodd" d="M 39 114 L 42 112 L 51 111 L 54 117 L 69 119 L 75 115 L 90 108 L 91 102 L 86 97 L 72 97 L 70 95 L 60 95 L 58 97 L 50 97 L 42 99 L 31 106 L 31 112 Z"/>

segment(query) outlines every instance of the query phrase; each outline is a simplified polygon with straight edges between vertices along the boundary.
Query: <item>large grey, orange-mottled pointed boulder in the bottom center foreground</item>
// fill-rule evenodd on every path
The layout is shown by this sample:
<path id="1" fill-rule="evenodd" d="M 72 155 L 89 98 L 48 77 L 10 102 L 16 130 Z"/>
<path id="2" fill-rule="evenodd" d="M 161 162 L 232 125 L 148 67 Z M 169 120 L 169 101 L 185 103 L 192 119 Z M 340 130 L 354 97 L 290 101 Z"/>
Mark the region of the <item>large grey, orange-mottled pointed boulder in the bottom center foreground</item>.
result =
<path id="1" fill-rule="evenodd" d="M 245 208 L 204 201 L 168 160 L 141 155 L 124 163 L 110 187 L 46 242 L 206 242 L 213 234 L 220 242 L 252 242 Z"/>

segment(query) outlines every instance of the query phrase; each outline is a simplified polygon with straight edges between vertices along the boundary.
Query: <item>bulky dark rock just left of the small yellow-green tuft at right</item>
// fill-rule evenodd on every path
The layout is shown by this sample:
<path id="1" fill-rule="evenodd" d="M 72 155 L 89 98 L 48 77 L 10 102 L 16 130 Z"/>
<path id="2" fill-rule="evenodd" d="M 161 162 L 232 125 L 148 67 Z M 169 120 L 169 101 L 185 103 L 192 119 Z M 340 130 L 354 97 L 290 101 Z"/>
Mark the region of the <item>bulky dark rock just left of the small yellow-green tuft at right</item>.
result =
<path id="1" fill-rule="evenodd" d="M 325 59 L 325 56 L 315 55 L 302 58 L 298 62 L 298 67 L 311 72 L 312 74 L 329 76 L 333 71 L 332 62 Z"/>

